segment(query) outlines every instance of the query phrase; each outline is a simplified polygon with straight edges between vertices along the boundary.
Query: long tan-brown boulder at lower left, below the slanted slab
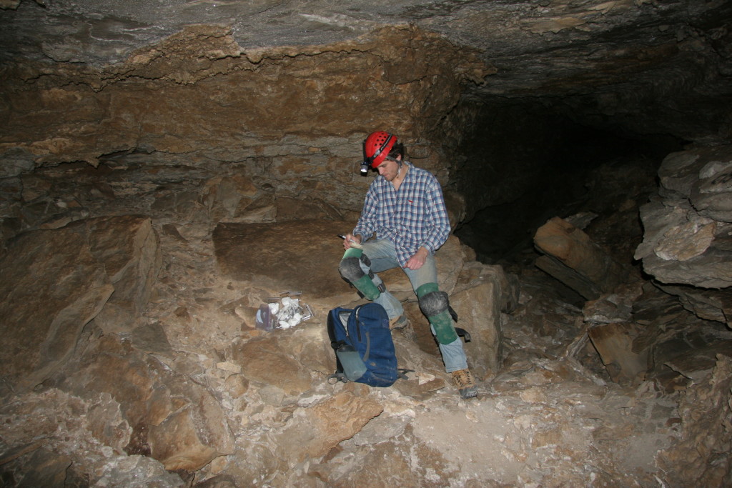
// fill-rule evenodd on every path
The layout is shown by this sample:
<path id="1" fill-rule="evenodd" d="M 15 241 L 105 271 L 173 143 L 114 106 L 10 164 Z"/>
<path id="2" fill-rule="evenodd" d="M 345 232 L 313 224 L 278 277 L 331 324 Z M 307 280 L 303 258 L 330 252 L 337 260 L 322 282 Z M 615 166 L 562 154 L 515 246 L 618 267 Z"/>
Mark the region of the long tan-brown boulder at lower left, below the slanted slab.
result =
<path id="1" fill-rule="evenodd" d="M 124 450 L 167 470 L 195 471 L 234 451 L 220 402 L 187 375 L 109 334 L 78 360 L 63 387 L 79 396 L 109 394 L 132 427 Z"/>

